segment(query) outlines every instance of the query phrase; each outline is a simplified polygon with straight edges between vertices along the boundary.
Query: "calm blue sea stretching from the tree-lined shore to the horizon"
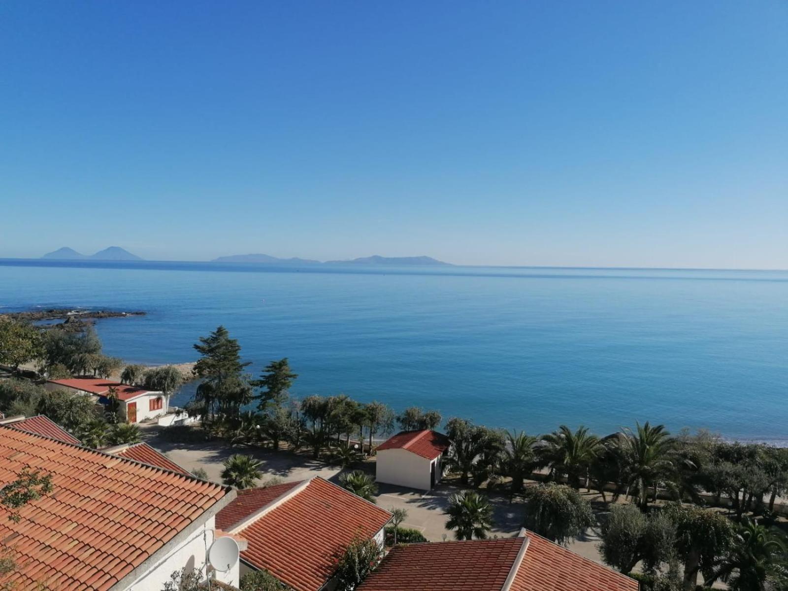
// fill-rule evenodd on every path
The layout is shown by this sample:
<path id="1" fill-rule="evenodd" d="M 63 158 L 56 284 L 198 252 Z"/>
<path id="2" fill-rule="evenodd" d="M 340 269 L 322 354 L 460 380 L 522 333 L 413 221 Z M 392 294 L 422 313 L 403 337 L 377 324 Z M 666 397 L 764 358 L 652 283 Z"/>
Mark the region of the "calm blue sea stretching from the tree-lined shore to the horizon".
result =
<path id="1" fill-rule="evenodd" d="M 194 360 L 225 325 L 255 374 L 290 358 L 298 396 L 788 441 L 788 272 L 95 265 L 0 260 L 0 312 L 146 310 L 97 325 L 108 354 L 146 363 Z"/>

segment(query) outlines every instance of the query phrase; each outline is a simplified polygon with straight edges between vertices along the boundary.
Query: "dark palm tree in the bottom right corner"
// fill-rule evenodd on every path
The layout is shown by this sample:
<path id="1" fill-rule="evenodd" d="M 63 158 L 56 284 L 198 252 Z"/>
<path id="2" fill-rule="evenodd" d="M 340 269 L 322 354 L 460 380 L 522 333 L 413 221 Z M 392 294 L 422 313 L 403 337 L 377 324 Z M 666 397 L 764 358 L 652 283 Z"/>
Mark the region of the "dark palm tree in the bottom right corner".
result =
<path id="1" fill-rule="evenodd" d="M 705 585 L 711 587 L 719 579 L 727 583 L 730 591 L 764 591 L 771 589 L 770 583 L 775 579 L 785 581 L 786 578 L 788 561 L 784 541 L 775 532 L 745 517 L 738 527 L 733 548 L 719 559 Z"/>

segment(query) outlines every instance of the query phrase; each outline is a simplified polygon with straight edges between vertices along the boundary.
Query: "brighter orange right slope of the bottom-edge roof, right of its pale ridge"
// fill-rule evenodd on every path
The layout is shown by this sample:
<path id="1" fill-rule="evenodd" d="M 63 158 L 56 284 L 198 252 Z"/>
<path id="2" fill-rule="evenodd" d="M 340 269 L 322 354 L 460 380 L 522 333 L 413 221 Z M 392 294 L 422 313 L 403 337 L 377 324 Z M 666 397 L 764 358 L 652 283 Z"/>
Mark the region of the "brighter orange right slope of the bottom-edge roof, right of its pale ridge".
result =
<path id="1" fill-rule="evenodd" d="M 637 581 L 533 532 L 511 591 L 637 591 Z"/>

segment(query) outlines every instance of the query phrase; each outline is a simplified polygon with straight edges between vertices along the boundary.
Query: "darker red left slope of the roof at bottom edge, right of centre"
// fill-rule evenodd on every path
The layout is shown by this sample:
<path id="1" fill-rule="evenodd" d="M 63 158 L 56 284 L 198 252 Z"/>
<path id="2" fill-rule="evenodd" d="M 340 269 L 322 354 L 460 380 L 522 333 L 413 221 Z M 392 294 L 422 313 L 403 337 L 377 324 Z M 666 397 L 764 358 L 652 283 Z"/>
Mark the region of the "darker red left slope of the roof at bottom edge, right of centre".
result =
<path id="1" fill-rule="evenodd" d="M 396 546 L 359 591 L 501 591 L 522 537 Z"/>

